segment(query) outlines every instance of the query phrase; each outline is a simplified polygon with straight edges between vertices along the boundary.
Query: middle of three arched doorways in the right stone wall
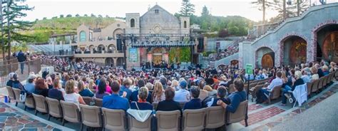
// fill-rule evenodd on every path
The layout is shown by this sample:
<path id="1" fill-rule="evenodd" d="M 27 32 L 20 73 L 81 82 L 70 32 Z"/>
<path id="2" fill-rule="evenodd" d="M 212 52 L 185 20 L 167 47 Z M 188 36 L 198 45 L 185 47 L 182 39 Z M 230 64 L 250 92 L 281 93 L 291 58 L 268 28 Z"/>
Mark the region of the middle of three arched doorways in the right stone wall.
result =
<path id="1" fill-rule="evenodd" d="M 285 38 L 284 65 L 295 66 L 298 63 L 307 63 L 307 41 L 299 36 Z"/>

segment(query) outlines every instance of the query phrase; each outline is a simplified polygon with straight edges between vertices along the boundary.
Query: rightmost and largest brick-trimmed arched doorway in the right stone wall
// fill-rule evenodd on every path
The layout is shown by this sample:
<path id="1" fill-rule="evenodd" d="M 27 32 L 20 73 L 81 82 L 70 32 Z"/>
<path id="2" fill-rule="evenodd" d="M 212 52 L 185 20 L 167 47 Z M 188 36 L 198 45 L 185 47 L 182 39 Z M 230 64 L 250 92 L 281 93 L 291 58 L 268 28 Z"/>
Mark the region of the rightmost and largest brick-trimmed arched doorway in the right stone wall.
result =
<path id="1" fill-rule="evenodd" d="M 317 31 L 317 61 L 338 62 L 338 24 L 329 24 Z"/>

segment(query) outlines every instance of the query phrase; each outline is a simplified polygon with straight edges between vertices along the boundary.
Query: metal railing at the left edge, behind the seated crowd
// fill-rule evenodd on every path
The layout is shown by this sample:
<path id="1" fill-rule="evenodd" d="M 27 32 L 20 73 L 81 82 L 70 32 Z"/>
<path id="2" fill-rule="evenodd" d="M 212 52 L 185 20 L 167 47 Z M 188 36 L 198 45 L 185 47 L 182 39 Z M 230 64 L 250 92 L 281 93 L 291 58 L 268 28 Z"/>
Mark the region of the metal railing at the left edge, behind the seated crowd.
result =
<path id="1" fill-rule="evenodd" d="M 24 66 L 24 70 L 21 72 L 21 64 Z M 0 85 L 4 87 L 9 80 L 9 73 L 16 73 L 19 77 L 19 81 L 26 80 L 29 73 L 39 73 L 41 70 L 41 59 L 38 58 L 32 61 L 25 61 L 22 63 L 9 63 L 0 65 Z"/>

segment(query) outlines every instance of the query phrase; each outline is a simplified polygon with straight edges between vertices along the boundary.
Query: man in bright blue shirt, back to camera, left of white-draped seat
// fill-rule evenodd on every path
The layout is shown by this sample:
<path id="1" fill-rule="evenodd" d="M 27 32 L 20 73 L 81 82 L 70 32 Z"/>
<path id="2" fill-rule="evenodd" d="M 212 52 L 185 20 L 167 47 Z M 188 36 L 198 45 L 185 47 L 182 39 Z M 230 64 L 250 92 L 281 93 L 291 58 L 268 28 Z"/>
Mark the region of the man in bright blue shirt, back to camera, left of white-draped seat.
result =
<path id="1" fill-rule="evenodd" d="M 120 109 L 125 111 L 128 110 L 129 108 L 128 99 L 118 95 L 118 92 L 120 91 L 120 84 L 118 84 L 117 81 L 113 81 L 111 83 L 111 90 L 113 91 L 111 95 L 106 95 L 103 97 L 102 107 L 109 109 Z M 123 96 L 126 96 L 126 93 L 124 93 Z"/>

